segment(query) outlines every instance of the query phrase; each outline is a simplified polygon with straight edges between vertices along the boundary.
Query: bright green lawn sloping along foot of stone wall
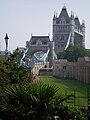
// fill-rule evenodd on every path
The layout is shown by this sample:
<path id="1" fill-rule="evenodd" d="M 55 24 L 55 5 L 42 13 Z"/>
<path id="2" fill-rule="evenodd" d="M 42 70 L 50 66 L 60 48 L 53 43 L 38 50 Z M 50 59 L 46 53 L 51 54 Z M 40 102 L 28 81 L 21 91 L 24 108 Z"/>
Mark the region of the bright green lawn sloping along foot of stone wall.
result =
<path id="1" fill-rule="evenodd" d="M 75 91 L 75 103 L 79 106 L 87 106 L 87 98 L 81 97 L 87 97 L 87 88 L 90 88 L 90 84 L 84 84 L 77 80 L 56 79 L 52 76 L 40 76 L 40 80 L 46 84 L 56 85 L 59 88 L 58 93 L 60 94 L 71 94 Z"/>

